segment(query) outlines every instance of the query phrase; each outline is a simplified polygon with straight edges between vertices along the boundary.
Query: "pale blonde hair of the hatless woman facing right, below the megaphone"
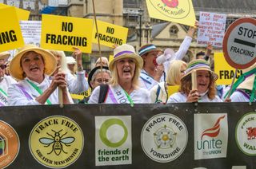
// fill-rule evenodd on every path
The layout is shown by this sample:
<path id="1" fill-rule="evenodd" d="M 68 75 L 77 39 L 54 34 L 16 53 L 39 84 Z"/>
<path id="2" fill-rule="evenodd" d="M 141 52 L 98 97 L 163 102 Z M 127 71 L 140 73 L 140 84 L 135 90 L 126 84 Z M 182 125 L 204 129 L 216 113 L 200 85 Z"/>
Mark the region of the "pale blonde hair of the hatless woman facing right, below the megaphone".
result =
<path id="1" fill-rule="evenodd" d="M 182 66 L 186 68 L 186 62 L 175 60 L 170 64 L 170 68 L 167 73 L 166 82 L 168 85 L 180 85 L 181 84 L 181 70 Z"/>

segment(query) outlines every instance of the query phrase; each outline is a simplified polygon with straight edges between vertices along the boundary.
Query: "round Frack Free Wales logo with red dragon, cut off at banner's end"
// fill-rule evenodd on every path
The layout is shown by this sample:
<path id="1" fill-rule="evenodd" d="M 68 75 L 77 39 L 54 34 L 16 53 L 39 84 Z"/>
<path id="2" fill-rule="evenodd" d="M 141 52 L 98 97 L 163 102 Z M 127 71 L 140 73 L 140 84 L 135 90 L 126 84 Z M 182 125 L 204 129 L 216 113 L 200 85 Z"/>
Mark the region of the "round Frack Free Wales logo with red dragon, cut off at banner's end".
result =
<path id="1" fill-rule="evenodd" d="M 246 113 L 238 121 L 235 140 L 246 155 L 256 155 L 256 112 Z"/>

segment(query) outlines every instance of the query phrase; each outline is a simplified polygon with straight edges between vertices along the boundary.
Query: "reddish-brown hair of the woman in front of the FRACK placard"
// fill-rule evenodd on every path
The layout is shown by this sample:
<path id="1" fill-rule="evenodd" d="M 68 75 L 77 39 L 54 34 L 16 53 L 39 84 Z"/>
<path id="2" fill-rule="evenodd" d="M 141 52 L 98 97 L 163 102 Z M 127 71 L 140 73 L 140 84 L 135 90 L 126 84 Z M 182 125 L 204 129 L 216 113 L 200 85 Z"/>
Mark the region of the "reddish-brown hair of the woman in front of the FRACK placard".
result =
<path id="1" fill-rule="evenodd" d="M 213 75 L 211 73 L 209 74 L 210 74 L 210 83 L 208 86 L 207 96 L 209 97 L 210 100 L 213 100 L 216 95 L 215 81 L 214 81 Z M 182 78 L 179 92 L 185 93 L 188 96 L 191 89 L 192 89 L 192 81 L 191 81 L 191 74 L 190 74 Z"/>

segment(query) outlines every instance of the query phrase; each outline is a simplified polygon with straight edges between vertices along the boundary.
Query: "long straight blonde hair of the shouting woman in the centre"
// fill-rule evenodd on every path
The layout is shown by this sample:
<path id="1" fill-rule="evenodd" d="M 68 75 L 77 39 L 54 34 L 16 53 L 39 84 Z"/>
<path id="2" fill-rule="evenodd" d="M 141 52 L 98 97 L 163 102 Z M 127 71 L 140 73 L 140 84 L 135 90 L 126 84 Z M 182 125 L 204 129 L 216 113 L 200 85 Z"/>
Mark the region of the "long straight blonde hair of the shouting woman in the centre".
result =
<path id="1" fill-rule="evenodd" d="M 116 85 L 119 84 L 119 81 L 118 81 L 118 79 L 119 79 L 119 77 L 118 77 L 118 68 L 116 66 L 117 61 L 114 62 L 114 65 L 113 65 L 114 69 L 113 69 L 113 72 L 111 72 L 112 73 L 112 77 L 111 77 L 111 80 L 110 80 L 110 83 L 109 83 L 110 85 L 113 85 L 113 86 L 116 86 Z M 140 76 L 141 70 L 138 68 L 138 62 L 135 61 L 135 63 L 136 63 L 136 66 L 135 66 L 135 69 L 134 69 L 134 77 L 131 80 L 131 83 L 132 83 L 134 88 L 139 88 L 140 82 L 139 82 L 138 78 Z"/>

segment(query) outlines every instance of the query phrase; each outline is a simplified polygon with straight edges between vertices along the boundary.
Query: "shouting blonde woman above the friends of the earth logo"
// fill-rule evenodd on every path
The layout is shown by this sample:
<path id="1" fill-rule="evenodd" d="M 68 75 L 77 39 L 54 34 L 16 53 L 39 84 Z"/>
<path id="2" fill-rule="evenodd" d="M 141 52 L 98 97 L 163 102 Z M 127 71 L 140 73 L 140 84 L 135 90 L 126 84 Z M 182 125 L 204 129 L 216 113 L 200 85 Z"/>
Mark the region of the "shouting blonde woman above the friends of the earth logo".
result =
<path id="1" fill-rule="evenodd" d="M 135 53 L 134 47 L 123 44 L 114 49 L 114 59 L 110 61 L 112 78 L 104 98 L 106 104 L 150 103 L 149 92 L 140 88 L 139 74 L 142 69 L 142 58 Z M 99 102 L 100 86 L 94 89 L 89 103 Z"/>

